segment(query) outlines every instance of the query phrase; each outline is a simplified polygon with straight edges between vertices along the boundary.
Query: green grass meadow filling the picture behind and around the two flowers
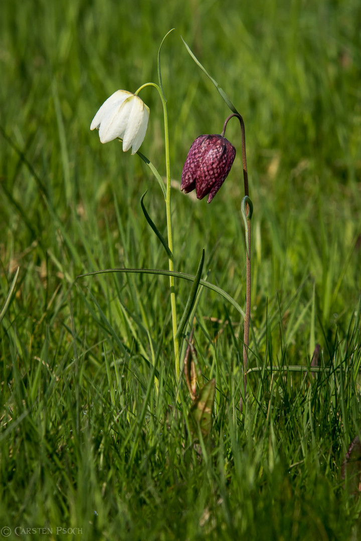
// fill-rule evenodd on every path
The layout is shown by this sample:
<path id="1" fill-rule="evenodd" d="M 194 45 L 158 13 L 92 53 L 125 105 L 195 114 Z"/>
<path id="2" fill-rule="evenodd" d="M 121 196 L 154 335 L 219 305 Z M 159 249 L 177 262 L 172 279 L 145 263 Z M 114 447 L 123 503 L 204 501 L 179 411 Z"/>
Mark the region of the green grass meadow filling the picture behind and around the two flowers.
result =
<path id="1" fill-rule="evenodd" d="M 4 0 L 0 13 L 0 310 L 19 267 L 0 322 L 0 530 L 359 539 L 361 502 L 341 479 L 361 428 L 358 0 Z M 140 207 L 148 189 L 165 234 L 159 186 L 89 127 L 115 90 L 157 82 L 173 27 L 162 49 L 172 179 L 194 138 L 220 133 L 229 114 L 182 35 L 244 117 L 254 204 L 250 366 L 264 370 L 240 414 L 242 321 L 202 291 L 195 343 L 217 392 L 200 456 L 185 387 L 175 400 L 167 278 L 76 278 L 167 268 Z M 154 89 L 141 97 L 141 151 L 165 175 L 161 103 Z M 237 121 L 226 135 L 238 155 L 211 205 L 174 183 L 175 269 L 195 274 L 205 248 L 207 279 L 244 306 Z M 179 316 L 189 288 L 176 281 Z M 330 371 L 267 370 L 309 366 L 316 343 Z"/>

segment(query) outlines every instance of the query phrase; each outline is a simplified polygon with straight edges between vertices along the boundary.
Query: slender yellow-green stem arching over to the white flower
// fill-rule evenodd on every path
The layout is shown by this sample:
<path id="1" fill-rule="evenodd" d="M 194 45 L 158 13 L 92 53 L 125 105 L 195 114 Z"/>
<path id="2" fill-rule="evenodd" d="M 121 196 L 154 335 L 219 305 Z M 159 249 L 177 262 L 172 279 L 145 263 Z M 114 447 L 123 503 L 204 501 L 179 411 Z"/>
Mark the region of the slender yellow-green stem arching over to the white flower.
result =
<path id="1" fill-rule="evenodd" d="M 143 84 L 136 92 L 138 93 L 145 87 L 154 87 L 157 89 L 163 105 L 163 118 L 164 118 L 164 138 L 165 138 L 165 152 L 166 152 L 166 177 L 167 177 L 167 189 L 166 189 L 166 215 L 167 215 L 167 234 L 168 234 L 168 247 L 172 256 L 168 257 L 169 271 L 174 271 L 173 262 L 173 235 L 172 235 L 172 209 L 170 206 L 170 160 L 169 160 L 169 129 L 168 129 L 168 110 L 167 100 L 163 93 L 163 90 L 159 85 L 155 83 Z M 176 380 L 180 379 L 180 360 L 179 360 L 179 339 L 176 336 L 177 332 L 177 313 L 175 303 L 175 287 L 174 276 L 169 275 L 169 288 L 170 288 L 170 308 L 172 310 L 172 330 L 173 330 L 173 347 L 174 347 L 174 361 L 175 361 L 175 377 Z"/>

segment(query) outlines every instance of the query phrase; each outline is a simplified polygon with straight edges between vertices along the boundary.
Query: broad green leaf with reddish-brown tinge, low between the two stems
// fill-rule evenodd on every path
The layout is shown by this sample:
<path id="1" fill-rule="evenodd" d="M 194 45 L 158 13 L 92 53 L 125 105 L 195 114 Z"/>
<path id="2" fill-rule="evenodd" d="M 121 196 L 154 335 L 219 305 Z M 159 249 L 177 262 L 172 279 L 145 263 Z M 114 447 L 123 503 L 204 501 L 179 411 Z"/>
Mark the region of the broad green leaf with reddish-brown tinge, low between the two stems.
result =
<path id="1" fill-rule="evenodd" d="M 198 433 L 198 426 L 204 438 L 211 432 L 214 394 L 215 379 L 211 379 L 202 387 L 188 415 L 189 427 L 193 436 Z"/>

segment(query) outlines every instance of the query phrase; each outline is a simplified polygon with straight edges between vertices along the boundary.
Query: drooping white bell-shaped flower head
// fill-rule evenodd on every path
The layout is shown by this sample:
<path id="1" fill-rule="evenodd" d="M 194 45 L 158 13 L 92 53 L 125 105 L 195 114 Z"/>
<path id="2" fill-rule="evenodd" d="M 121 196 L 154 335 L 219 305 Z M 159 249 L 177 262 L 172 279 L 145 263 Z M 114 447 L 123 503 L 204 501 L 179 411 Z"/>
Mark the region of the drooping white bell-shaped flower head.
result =
<path id="1" fill-rule="evenodd" d="M 123 151 L 132 147 L 132 154 L 135 154 L 145 138 L 148 118 L 149 107 L 140 97 L 127 90 L 117 90 L 104 101 L 90 129 L 99 130 L 102 143 L 119 137 L 123 140 Z"/>

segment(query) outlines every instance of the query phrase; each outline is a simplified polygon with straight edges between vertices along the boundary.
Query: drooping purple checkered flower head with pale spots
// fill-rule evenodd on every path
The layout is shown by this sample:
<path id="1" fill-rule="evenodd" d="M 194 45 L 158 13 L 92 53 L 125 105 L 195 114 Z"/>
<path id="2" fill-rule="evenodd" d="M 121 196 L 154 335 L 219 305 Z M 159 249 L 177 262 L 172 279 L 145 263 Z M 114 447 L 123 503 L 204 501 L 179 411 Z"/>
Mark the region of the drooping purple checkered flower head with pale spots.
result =
<path id="1" fill-rule="evenodd" d="M 181 189 L 195 189 L 198 199 L 208 195 L 210 203 L 231 170 L 235 148 L 222 135 L 200 135 L 189 149 L 182 171 Z"/>

